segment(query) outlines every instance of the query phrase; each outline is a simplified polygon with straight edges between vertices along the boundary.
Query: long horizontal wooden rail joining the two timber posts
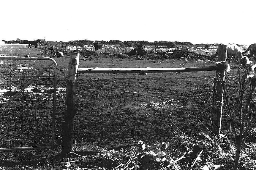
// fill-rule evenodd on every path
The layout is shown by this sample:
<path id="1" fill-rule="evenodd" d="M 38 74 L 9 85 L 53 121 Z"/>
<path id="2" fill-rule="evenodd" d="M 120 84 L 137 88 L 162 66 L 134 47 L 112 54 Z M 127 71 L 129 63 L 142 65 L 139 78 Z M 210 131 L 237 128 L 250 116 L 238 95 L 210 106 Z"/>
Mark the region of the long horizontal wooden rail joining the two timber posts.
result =
<path id="1" fill-rule="evenodd" d="M 216 71 L 216 67 L 183 68 L 78 68 L 78 73 L 159 73 Z"/>

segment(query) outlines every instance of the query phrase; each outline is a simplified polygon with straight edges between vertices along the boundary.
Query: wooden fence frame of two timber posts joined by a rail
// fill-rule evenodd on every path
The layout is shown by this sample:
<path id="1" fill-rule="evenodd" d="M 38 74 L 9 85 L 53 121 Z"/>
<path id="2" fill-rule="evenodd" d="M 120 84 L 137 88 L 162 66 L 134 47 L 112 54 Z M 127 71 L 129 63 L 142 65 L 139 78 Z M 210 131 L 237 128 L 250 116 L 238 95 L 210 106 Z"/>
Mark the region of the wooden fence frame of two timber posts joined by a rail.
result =
<path id="1" fill-rule="evenodd" d="M 222 49 L 227 51 L 226 45 L 220 45 Z M 225 51 L 224 50 L 224 51 Z M 227 52 L 221 52 L 218 55 L 218 61 L 227 60 Z M 76 97 L 76 84 L 79 73 L 154 73 L 154 72 L 200 72 L 200 71 L 216 71 L 216 77 L 218 74 L 218 68 L 213 67 L 184 67 L 184 68 L 78 68 L 79 66 L 79 53 L 72 51 L 70 53 L 68 74 L 67 74 L 67 90 L 66 90 L 66 104 L 64 113 L 64 123 L 63 123 L 63 136 L 62 136 L 62 153 L 67 154 L 72 151 L 73 140 L 74 140 L 74 117 L 77 113 L 75 108 L 75 97 Z M 225 72 L 225 69 L 223 70 Z M 225 73 L 224 73 L 225 75 Z M 214 122 L 214 128 L 221 128 L 221 115 L 222 115 L 222 104 L 223 104 L 223 88 L 222 84 L 217 84 L 217 93 L 214 94 L 214 98 L 217 96 L 220 100 L 215 102 L 220 102 L 221 107 L 219 110 L 213 109 L 213 114 L 216 117 L 216 122 Z M 213 104 L 216 105 L 215 103 Z M 214 107 L 213 106 L 213 107 Z M 218 123 L 219 121 L 219 123 Z M 214 133 L 220 131 L 215 130 Z M 218 135 L 218 134 L 217 134 Z"/>

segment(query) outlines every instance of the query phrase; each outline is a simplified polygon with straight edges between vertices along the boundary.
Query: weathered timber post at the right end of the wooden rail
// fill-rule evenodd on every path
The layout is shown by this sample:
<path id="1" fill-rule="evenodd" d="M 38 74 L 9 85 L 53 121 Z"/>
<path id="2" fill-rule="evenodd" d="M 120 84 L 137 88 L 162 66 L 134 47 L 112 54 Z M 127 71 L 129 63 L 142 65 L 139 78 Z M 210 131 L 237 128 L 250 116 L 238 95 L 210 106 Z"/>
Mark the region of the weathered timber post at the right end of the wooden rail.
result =
<path id="1" fill-rule="evenodd" d="M 227 45 L 219 45 L 218 61 L 227 60 Z M 213 99 L 213 127 L 212 132 L 219 136 L 221 130 L 222 107 L 223 107 L 223 86 L 225 81 L 225 67 L 216 70 L 216 81 L 214 83 Z"/>

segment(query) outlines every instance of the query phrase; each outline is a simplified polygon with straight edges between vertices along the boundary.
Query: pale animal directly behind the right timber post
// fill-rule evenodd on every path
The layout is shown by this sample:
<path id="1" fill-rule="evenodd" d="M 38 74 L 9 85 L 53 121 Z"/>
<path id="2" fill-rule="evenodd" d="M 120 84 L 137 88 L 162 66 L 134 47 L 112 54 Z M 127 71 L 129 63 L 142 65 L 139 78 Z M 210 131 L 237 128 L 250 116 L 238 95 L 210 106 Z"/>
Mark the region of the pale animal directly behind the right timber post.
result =
<path id="1" fill-rule="evenodd" d="M 219 48 L 217 48 L 217 52 L 216 54 L 214 54 L 214 56 L 212 57 L 215 58 L 219 53 Z M 242 58 L 243 54 L 242 54 L 242 50 L 240 49 L 240 47 L 238 47 L 238 45 L 236 44 L 227 44 L 227 57 L 231 59 L 234 57 L 235 61 L 240 61 L 240 59 Z"/>

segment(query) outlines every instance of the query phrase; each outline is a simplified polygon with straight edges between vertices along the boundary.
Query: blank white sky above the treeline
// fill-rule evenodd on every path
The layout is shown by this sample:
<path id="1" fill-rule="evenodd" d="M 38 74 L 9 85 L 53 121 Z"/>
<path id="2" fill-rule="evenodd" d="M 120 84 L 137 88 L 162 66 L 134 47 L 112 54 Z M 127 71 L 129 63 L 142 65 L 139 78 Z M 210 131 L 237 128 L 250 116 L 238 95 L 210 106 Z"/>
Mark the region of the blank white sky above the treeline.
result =
<path id="1" fill-rule="evenodd" d="M 251 0 L 2 0 L 0 40 L 256 43 Z"/>

